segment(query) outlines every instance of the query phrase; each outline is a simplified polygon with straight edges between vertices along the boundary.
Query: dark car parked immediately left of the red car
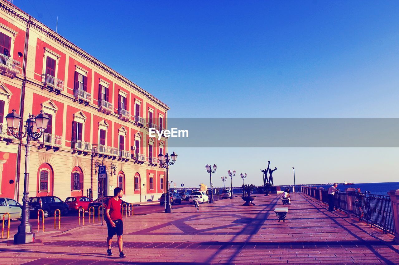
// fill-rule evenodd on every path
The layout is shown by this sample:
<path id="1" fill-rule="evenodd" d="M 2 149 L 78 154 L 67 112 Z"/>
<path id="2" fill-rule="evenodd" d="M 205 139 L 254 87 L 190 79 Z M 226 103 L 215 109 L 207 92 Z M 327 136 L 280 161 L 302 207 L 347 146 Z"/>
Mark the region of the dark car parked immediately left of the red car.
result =
<path id="1" fill-rule="evenodd" d="M 57 209 L 61 211 L 62 215 L 67 215 L 69 212 L 69 206 L 55 196 L 31 197 L 29 206 L 31 216 L 37 216 L 38 210 L 43 210 L 44 218 L 54 214 Z"/>

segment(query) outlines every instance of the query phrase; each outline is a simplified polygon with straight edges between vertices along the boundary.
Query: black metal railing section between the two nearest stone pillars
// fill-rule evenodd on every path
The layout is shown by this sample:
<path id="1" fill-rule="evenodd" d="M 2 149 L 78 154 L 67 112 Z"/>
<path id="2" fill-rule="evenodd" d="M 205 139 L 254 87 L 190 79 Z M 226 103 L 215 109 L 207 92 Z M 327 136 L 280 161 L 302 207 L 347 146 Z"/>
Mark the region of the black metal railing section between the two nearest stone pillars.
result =
<path id="1" fill-rule="evenodd" d="M 391 198 L 385 195 L 365 193 L 352 193 L 353 213 L 359 221 L 367 222 L 371 227 L 375 226 L 384 233 L 394 234 L 393 212 Z"/>

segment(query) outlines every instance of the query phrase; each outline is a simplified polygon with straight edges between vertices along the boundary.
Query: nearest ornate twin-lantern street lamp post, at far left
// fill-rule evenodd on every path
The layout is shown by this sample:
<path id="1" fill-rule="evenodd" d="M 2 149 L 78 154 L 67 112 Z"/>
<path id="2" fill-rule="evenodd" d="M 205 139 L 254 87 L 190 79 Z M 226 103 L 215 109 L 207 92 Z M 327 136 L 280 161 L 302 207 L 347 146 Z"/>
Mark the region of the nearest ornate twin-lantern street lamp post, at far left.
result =
<path id="1" fill-rule="evenodd" d="M 47 124 L 49 117 L 41 110 L 40 114 L 30 115 L 25 121 L 25 132 L 17 131 L 20 128 L 21 116 L 13 109 L 12 113 L 6 116 L 7 127 L 10 129 L 12 136 L 18 139 L 26 137 L 25 144 L 25 177 L 24 177 L 24 197 L 22 198 L 22 216 L 21 224 L 18 226 L 18 232 L 14 235 L 14 244 L 32 243 L 35 240 L 35 233 L 32 232 L 32 226 L 29 222 L 29 157 L 30 157 L 30 141 L 37 140 L 42 135 Z M 39 130 L 39 131 L 38 131 Z"/>

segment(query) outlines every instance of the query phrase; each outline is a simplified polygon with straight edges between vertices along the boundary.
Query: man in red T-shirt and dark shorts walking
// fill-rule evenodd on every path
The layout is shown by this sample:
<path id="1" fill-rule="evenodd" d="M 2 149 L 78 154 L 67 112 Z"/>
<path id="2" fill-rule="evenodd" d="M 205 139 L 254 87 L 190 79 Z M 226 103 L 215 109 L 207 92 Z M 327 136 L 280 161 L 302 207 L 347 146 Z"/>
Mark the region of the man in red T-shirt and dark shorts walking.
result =
<path id="1" fill-rule="evenodd" d="M 112 256 L 111 244 L 112 238 L 115 234 L 118 237 L 118 247 L 119 247 L 119 257 L 123 258 L 126 255 L 123 253 L 123 222 L 122 222 L 122 214 L 120 214 L 120 208 L 122 206 L 122 195 L 123 189 L 117 187 L 114 189 L 114 197 L 109 198 L 107 202 L 107 207 L 105 207 L 105 213 L 107 215 L 106 222 L 108 228 L 108 237 L 107 237 L 107 255 Z"/>

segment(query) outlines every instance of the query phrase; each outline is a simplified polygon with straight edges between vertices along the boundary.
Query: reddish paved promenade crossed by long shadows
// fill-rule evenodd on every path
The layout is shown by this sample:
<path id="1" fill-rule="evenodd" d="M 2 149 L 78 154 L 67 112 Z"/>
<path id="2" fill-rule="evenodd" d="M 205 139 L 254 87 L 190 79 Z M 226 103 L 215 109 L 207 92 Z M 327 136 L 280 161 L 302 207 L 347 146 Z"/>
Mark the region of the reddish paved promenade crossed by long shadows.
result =
<path id="1" fill-rule="evenodd" d="M 286 222 L 278 222 L 273 209 L 282 206 L 280 197 L 259 196 L 249 207 L 236 197 L 201 204 L 199 213 L 176 206 L 173 214 L 124 218 L 124 259 L 116 243 L 114 256 L 105 255 L 106 226 L 92 224 L 38 233 L 34 244 L 3 241 L 0 264 L 399 263 L 392 236 L 301 193 L 292 194 Z"/>

